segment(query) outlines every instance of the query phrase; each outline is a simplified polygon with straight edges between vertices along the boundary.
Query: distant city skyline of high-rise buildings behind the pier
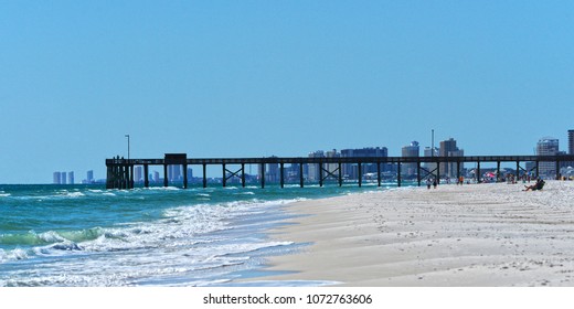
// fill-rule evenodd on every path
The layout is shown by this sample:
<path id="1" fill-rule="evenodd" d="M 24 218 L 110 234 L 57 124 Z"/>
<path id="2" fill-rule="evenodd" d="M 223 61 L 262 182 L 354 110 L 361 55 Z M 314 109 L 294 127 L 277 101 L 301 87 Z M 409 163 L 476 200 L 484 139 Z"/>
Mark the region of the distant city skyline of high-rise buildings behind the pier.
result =
<path id="1" fill-rule="evenodd" d="M 568 130 L 568 135 L 571 132 L 574 132 L 574 130 Z M 568 136 L 570 137 L 570 136 Z M 572 139 L 568 139 L 568 149 L 572 147 Z M 419 157 L 423 154 L 424 157 L 459 157 L 465 156 L 465 151 L 460 149 L 457 146 L 457 140 L 454 138 L 448 138 L 445 140 L 438 141 L 439 147 L 435 148 L 434 151 L 432 151 L 431 147 L 425 147 L 424 151 L 421 151 L 421 145 L 418 141 L 411 141 L 408 145 L 402 147 L 401 149 L 401 156 L 400 157 Z M 568 151 L 560 151 L 560 140 L 552 138 L 552 137 L 543 137 L 540 138 L 535 146 L 535 153 L 538 156 L 556 156 L 556 154 L 574 154 Z M 273 156 L 275 157 L 275 156 Z M 299 156 L 304 157 L 304 156 Z M 384 146 L 378 146 L 378 147 L 363 147 L 358 149 L 341 149 L 338 151 L 337 149 L 331 150 L 316 150 L 311 151 L 307 154 L 307 157 L 310 158 L 338 158 L 338 157 L 389 157 L 389 149 Z M 136 158 L 132 158 L 136 159 Z M 525 162 L 527 170 L 531 170 L 531 163 L 532 162 Z M 566 164 L 563 164 L 561 168 L 565 169 L 567 166 L 573 166 L 573 162 L 567 162 Z M 424 168 L 427 171 L 433 171 L 436 169 L 435 163 L 424 163 Z M 461 163 L 458 166 L 461 170 L 465 169 L 465 164 Z M 285 168 L 285 174 L 287 175 L 287 180 L 298 180 L 299 179 L 299 167 L 296 164 L 291 164 L 289 167 Z M 318 182 L 322 177 L 325 177 L 326 173 L 334 174 L 338 172 L 338 166 L 337 164 L 329 164 L 327 163 L 325 167 L 325 170 L 321 171 L 317 164 L 305 164 L 302 168 L 302 171 L 305 173 L 305 179 L 307 181 L 311 182 Z M 144 175 L 144 168 L 141 166 L 135 167 L 135 182 L 136 183 L 144 183 L 145 175 Z M 193 168 L 188 168 L 188 179 L 190 182 L 199 182 L 199 179 L 193 178 Z M 370 173 L 376 173 L 378 169 L 374 164 L 364 164 L 363 170 L 361 171 L 361 174 L 363 177 Z M 396 167 L 393 164 L 385 164 L 382 169 L 382 172 L 389 172 L 389 173 L 396 173 Z M 467 171 L 468 172 L 468 171 Z M 251 172 L 247 174 L 247 177 L 256 177 L 257 179 L 261 179 L 262 175 L 265 173 L 265 179 L 268 182 L 278 182 L 279 181 L 279 170 L 278 164 L 267 164 L 265 167 L 265 171 L 262 170 L 262 166 L 257 166 L 257 173 L 252 174 Z M 556 173 L 556 166 L 554 162 L 540 162 L 539 167 L 539 173 L 544 177 L 552 177 Z M 574 173 L 574 170 L 570 170 L 565 173 Z M 168 181 L 170 183 L 173 182 L 182 182 L 183 181 L 183 167 L 178 164 L 170 164 L 168 167 L 168 174 L 163 175 L 160 174 L 160 172 L 156 170 L 150 170 L 148 174 L 148 179 L 151 181 L 151 183 L 155 184 L 162 184 L 163 178 L 168 178 Z M 341 167 L 341 174 L 344 179 L 349 180 L 355 180 L 358 179 L 359 171 L 357 170 L 357 164 L 342 164 Z M 404 174 L 405 177 L 414 177 L 416 174 L 416 164 L 413 163 L 405 163 L 403 166 L 403 169 L 401 171 L 401 174 Z M 448 178 L 456 178 L 458 174 L 457 172 L 457 164 L 456 163 L 449 163 L 449 164 L 442 164 L 439 174 Z M 221 179 L 224 177 L 221 173 L 210 173 L 210 178 L 214 179 Z M 228 177 L 228 175 L 225 175 Z M 66 182 L 66 172 L 54 172 L 53 173 L 53 183 L 55 184 L 74 184 L 74 172 L 68 172 L 67 178 L 71 179 L 70 182 Z M 233 179 L 230 180 L 231 183 L 233 183 Z M 235 179 L 235 181 L 238 181 Z M 87 177 L 85 180 L 82 181 L 82 183 L 103 183 L 104 179 L 102 180 L 94 180 L 94 171 L 89 170 L 87 172 Z"/>

